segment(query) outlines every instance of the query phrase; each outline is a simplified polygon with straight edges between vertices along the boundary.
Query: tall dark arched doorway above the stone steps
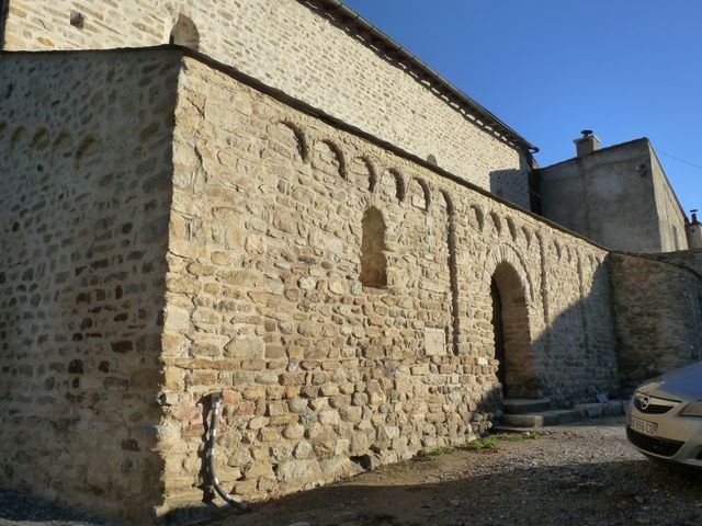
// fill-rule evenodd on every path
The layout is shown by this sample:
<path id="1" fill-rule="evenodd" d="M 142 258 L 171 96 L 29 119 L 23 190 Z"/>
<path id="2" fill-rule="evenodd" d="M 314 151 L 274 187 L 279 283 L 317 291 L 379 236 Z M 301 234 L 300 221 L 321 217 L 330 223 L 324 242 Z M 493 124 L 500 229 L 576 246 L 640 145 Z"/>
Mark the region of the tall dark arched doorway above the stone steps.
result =
<path id="1" fill-rule="evenodd" d="M 526 291 L 517 271 L 507 262 L 497 265 L 490 279 L 497 378 L 505 398 L 540 398 L 534 371 Z"/>

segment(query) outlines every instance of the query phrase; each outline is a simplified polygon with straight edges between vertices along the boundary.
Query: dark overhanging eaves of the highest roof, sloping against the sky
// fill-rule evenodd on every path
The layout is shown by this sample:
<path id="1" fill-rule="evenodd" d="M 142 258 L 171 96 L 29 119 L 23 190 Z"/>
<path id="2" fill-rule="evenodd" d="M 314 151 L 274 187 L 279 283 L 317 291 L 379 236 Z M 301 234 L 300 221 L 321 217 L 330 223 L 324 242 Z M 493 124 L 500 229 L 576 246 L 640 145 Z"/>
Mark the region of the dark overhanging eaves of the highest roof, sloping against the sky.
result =
<path id="1" fill-rule="evenodd" d="M 375 27 L 341 0 L 297 1 L 314 12 L 330 19 L 337 25 L 343 27 L 352 37 L 355 37 L 383 58 L 397 64 L 405 69 L 407 75 L 412 76 L 415 80 L 423 84 L 434 95 L 442 99 L 475 125 L 512 146 L 522 147 L 528 153 L 539 151 L 536 146 L 529 142 L 490 111 L 471 99 L 419 57 Z"/>

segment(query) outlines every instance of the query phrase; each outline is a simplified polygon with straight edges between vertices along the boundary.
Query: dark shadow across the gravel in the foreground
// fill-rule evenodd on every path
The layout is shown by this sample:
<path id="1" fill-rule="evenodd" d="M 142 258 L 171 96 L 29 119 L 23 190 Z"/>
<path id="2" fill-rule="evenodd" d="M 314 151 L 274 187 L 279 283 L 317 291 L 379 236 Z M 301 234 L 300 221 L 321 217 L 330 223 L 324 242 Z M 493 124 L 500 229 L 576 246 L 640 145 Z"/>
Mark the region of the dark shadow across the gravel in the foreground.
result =
<path id="1" fill-rule="evenodd" d="M 475 454 L 472 454 L 475 455 Z M 642 460 L 518 468 L 417 485 L 321 488 L 217 525 L 702 524 L 702 476 Z"/>

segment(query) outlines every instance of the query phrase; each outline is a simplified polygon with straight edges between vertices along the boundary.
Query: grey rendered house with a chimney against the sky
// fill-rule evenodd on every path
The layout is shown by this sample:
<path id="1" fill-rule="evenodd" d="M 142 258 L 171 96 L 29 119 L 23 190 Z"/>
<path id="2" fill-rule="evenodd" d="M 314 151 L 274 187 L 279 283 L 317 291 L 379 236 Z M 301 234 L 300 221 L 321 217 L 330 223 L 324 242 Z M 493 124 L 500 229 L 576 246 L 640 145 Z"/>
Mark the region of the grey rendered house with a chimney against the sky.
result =
<path id="1" fill-rule="evenodd" d="M 613 250 L 688 249 L 688 218 L 648 139 L 575 142 L 577 157 L 539 170 L 544 217 Z"/>

